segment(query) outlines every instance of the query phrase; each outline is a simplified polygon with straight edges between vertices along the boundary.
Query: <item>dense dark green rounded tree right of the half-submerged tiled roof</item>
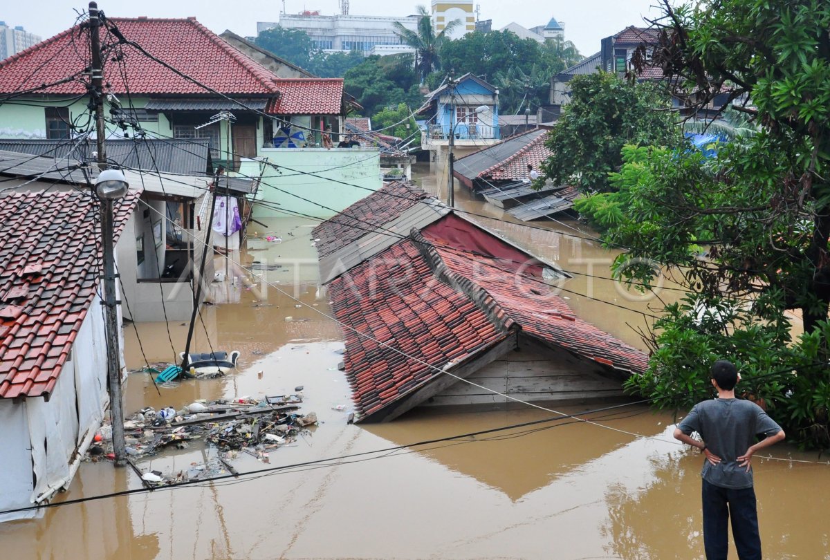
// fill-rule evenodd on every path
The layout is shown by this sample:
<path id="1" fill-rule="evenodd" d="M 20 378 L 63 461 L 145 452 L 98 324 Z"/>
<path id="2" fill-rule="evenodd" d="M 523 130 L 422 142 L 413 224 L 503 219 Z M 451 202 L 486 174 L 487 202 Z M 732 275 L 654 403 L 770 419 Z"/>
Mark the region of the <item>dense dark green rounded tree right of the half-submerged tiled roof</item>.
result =
<path id="1" fill-rule="evenodd" d="M 554 183 L 605 192 L 608 173 L 623 164 L 624 144 L 680 144 L 676 113 L 656 85 L 605 72 L 575 76 L 569 85 L 571 101 L 545 140 L 553 155 L 541 165 Z"/>

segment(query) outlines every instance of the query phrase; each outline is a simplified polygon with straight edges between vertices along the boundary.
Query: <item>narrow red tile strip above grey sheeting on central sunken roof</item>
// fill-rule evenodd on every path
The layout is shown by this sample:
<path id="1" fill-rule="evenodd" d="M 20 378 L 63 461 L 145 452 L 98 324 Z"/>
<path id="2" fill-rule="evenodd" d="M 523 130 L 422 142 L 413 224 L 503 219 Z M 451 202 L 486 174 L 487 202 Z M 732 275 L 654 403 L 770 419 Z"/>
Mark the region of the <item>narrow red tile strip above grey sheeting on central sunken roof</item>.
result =
<path id="1" fill-rule="evenodd" d="M 317 251 L 320 257 L 339 251 L 357 241 L 375 228 L 400 216 L 418 201 L 429 198 L 427 192 L 403 183 L 388 183 L 368 197 L 361 198 L 337 216 L 315 227 L 315 238 L 320 238 Z"/>

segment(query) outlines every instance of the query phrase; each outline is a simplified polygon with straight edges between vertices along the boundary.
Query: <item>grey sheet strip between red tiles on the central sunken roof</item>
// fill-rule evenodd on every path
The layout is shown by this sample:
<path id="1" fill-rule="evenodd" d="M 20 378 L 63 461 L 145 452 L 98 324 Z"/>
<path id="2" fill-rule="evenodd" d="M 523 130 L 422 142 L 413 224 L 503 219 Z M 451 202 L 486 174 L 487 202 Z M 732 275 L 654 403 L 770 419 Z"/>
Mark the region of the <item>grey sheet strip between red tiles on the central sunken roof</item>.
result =
<path id="1" fill-rule="evenodd" d="M 421 230 L 439 218 L 446 216 L 450 208 L 440 204 L 435 199 L 426 202 L 416 202 L 406 211 L 390 222 L 369 231 L 349 245 L 334 251 L 330 255 L 320 257 L 320 281 L 328 284 L 354 268 L 354 266 L 371 259 L 381 251 L 393 246 L 403 237 L 409 235 L 413 227 Z"/>

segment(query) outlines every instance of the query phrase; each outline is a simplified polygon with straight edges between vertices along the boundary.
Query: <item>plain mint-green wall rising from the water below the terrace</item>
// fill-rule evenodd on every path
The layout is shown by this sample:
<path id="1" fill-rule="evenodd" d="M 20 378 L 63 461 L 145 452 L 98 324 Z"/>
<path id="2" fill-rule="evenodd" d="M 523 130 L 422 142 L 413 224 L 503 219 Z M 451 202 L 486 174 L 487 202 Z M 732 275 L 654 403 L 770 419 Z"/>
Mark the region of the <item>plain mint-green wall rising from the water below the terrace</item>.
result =
<path id="1" fill-rule="evenodd" d="M 377 149 L 261 149 L 262 156 L 276 168 L 267 167 L 263 175 L 256 216 L 286 216 L 285 212 L 328 219 L 383 186 L 380 153 Z M 241 173 L 251 173 L 245 168 Z M 273 205 L 285 212 L 279 212 Z"/>

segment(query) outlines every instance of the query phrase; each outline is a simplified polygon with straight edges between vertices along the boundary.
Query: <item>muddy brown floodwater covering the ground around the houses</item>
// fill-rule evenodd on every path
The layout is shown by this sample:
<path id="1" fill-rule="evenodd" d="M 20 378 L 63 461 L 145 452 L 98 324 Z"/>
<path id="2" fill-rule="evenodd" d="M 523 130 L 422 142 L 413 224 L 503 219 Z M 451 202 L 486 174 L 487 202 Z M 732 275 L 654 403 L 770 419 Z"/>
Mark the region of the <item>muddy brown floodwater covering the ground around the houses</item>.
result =
<path id="1" fill-rule="evenodd" d="M 458 199 L 472 212 L 490 212 L 465 200 L 463 192 Z M 551 421 L 401 450 L 394 448 L 555 415 L 534 409 L 413 411 L 386 425 L 347 425 L 345 412 L 333 410 L 349 403 L 349 387 L 337 370 L 341 334 L 323 315 L 329 307 L 310 264 L 310 225 L 291 219 L 269 223 L 269 231 L 296 241 L 252 241 L 247 260 L 281 266 L 256 270 L 262 277 L 239 271 L 237 285 L 213 287 L 212 299 L 232 303 L 206 307 L 196 349 L 239 349 L 237 373 L 160 388 L 160 395 L 149 376 L 134 373 L 125 409 L 178 408 L 197 398 L 256 397 L 304 385 L 303 411 L 320 417 L 313 435 L 272 451 L 269 465 L 242 455 L 234 461 L 237 470 L 353 456 L 48 509 L 41 519 L 0 524 L 2 558 L 703 558 L 701 456 L 671 439 L 670 415 L 625 407 L 588 415 L 596 424 Z M 610 256 L 592 242 L 504 222 L 487 225 L 566 270 L 593 266 L 593 274 L 608 276 Z M 571 227 L 583 226 L 558 227 L 573 232 Z M 262 279 L 305 305 L 295 308 L 295 299 Z M 627 299 L 613 282 L 584 275 L 574 275 L 564 287 L 579 314 L 642 346 L 628 326 L 642 327 L 642 314 L 597 299 L 636 310 L 653 301 Z M 585 297 L 587 290 L 596 299 Z M 133 326 L 125 328 L 131 368 L 145 363 L 139 338 L 150 363 L 173 359 L 168 338 L 177 351 L 183 348 L 182 324 L 136 327 L 139 337 Z M 141 466 L 176 470 L 212 453 L 193 446 Z M 354 456 L 361 453 L 366 455 Z M 824 519 L 830 465 L 788 446 L 774 447 L 772 455 L 784 460 L 754 461 L 765 558 L 830 558 Z M 131 470 L 85 463 L 57 502 L 140 487 Z M 730 558 L 736 558 L 734 550 Z"/>

